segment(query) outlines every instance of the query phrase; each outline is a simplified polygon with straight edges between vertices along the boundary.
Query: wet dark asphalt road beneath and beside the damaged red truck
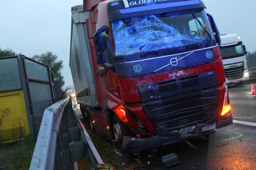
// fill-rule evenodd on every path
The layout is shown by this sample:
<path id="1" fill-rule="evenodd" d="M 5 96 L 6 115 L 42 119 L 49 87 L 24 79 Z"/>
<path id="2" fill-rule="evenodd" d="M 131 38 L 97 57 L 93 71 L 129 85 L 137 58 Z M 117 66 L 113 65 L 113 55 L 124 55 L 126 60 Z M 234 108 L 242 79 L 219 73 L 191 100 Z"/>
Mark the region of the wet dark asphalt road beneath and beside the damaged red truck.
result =
<path id="1" fill-rule="evenodd" d="M 237 123 L 216 129 L 208 137 L 140 152 L 145 166 L 140 169 L 256 170 L 256 95 L 250 95 L 251 84 L 228 85 L 228 90 L 233 120 Z M 248 122 L 252 124 L 245 125 Z M 167 168 L 162 157 L 171 153 L 177 155 L 180 163 Z"/>

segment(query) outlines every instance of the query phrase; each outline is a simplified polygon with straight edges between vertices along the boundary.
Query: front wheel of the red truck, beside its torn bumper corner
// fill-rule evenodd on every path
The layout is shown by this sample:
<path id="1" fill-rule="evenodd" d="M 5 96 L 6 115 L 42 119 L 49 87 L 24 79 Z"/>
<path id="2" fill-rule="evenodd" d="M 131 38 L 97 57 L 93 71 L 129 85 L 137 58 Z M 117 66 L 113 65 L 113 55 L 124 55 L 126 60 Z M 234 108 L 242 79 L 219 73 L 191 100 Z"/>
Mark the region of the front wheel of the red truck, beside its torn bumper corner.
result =
<path id="1" fill-rule="evenodd" d="M 128 130 L 126 129 L 126 127 L 124 127 L 124 124 L 117 115 L 115 115 L 113 118 L 113 124 L 114 137 L 117 140 L 119 147 L 122 148 L 123 138 L 124 135 L 128 134 Z"/>

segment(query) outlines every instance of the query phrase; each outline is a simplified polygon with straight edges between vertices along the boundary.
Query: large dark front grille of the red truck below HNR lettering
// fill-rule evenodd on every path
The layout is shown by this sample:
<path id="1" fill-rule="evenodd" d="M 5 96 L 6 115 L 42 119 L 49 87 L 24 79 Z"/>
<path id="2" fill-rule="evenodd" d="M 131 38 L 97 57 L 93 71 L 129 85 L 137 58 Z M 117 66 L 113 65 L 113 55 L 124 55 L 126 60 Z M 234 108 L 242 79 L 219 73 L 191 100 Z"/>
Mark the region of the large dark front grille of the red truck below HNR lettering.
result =
<path id="1" fill-rule="evenodd" d="M 213 73 L 213 72 L 212 72 Z M 199 74 L 171 81 L 139 86 L 143 109 L 154 124 L 158 135 L 183 127 L 216 122 L 218 108 L 218 89 L 216 76 Z M 146 87 L 154 87 L 154 90 Z M 152 100 L 145 97 L 148 92 L 156 94 Z"/>

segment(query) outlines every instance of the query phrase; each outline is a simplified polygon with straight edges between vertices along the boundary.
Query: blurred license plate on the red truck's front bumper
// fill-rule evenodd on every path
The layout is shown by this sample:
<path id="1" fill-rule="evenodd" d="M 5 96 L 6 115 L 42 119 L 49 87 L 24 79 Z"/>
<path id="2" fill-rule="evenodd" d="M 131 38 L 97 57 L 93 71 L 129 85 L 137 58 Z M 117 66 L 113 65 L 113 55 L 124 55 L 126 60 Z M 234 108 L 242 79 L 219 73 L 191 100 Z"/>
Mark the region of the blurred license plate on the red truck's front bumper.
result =
<path id="1" fill-rule="evenodd" d="M 201 127 L 186 127 L 181 128 L 178 131 L 178 138 L 185 139 L 185 138 L 194 138 L 201 136 L 202 128 Z"/>

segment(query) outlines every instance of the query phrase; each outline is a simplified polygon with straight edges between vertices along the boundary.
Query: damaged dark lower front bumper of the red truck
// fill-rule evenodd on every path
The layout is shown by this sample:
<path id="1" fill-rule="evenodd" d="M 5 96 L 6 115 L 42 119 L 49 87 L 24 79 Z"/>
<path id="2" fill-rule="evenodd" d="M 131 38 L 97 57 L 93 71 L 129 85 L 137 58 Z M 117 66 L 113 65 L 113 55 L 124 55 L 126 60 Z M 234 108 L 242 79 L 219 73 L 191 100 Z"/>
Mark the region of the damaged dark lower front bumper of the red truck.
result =
<path id="1" fill-rule="evenodd" d="M 141 150 L 149 150 L 152 148 L 156 148 L 159 146 L 165 146 L 169 144 L 173 144 L 176 142 L 180 142 L 189 138 L 199 138 L 203 135 L 207 135 L 210 133 L 214 133 L 214 129 L 218 129 L 224 126 L 228 126 L 232 124 L 233 122 L 233 117 L 232 115 L 225 120 L 219 120 L 215 124 L 212 125 L 207 125 L 204 127 L 200 127 L 200 134 L 195 133 L 193 137 L 191 137 L 191 134 L 189 135 L 190 137 L 181 137 L 181 131 L 174 131 L 172 133 L 169 133 L 169 136 L 163 137 L 163 136 L 152 136 L 150 138 L 146 139 L 135 139 L 131 137 L 124 137 L 124 140 L 128 140 L 126 144 L 123 143 L 122 146 L 122 152 L 124 153 L 134 153 L 138 152 Z M 191 127 L 192 128 L 192 127 Z M 188 131 L 190 130 L 190 127 L 187 128 Z M 197 127 L 198 129 L 198 127 Z"/>

